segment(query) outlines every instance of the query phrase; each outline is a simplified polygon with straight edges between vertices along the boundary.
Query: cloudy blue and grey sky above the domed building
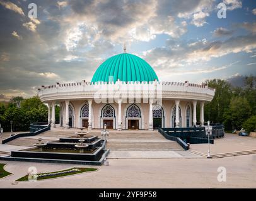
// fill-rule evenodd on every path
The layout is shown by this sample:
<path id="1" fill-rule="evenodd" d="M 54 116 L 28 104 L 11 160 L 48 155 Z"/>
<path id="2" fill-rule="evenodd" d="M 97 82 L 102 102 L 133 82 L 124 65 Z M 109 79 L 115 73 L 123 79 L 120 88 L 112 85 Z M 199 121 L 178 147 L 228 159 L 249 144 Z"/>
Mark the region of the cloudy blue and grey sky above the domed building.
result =
<path id="1" fill-rule="evenodd" d="M 91 81 L 124 43 L 160 81 L 256 75 L 255 19 L 255 0 L 0 0 L 0 100 Z"/>

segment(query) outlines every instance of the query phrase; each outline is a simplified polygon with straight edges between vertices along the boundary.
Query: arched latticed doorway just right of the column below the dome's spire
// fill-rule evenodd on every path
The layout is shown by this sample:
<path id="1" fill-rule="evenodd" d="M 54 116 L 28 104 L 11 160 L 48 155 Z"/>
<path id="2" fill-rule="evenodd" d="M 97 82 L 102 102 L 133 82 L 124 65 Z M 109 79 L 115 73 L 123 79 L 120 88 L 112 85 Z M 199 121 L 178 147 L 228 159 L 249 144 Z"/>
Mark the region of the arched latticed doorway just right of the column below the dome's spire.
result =
<path id="1" fill-rule="evenodd" d="M 141 109 L 136 104 L 131 104 L 126 109 L 125 129 L 131 129 L 132 126 L 137 129 L 142 128 Z"/>

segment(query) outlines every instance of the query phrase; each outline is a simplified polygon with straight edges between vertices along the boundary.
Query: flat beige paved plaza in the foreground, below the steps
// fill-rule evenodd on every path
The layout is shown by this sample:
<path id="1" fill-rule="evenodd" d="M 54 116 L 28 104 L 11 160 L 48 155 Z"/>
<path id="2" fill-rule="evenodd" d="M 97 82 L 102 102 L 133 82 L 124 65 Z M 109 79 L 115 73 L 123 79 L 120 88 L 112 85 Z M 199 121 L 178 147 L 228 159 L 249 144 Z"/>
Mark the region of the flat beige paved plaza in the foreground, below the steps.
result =
<path id="1" fill-rule="evenodd" d="M 38 182 L 12 182 L 30 166 L 38 172 L 58 171 L 76 165 L 6 161 L 14 173 L 0 180 L 1 188 L 255 188 L 256 155 L 228 158 L 109 159 L 98 171 Z M 1 161 L 1 163 L 4 161 Z M 77 165 L 81 167 L 90 167 Z M 218 167 L 227 171 L 226 182 L 218 182 Z M 95 168 L 95 166 L 93 166 Z"/>

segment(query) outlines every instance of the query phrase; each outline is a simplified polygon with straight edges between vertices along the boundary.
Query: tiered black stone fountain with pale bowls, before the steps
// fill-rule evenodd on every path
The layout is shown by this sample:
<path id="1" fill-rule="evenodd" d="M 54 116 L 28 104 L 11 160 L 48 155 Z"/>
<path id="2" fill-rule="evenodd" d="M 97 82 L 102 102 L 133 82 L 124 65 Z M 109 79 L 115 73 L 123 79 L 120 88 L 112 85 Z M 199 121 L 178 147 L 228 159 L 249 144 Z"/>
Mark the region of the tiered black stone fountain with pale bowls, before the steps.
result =
<path id="1" fill-rule="evenodd" d="M 84 165 L 102 165 L 107 164 L 105 141 L 98 136 L 86 136 L 87 132 L 76 132 L 76 136 L 68 138 L 59 138 L 55 141 L 44 143 L 42 138 L 38 138 L 38 143 L 33 144 L 33 148 L 11 151 L 10 156 L 5 160 L 22 160 L 22 161 L 41 161 L 43 163 L 78 163 Z M 107 130 L 105 132 L 107 134 Z M 0 157 L 2 158 L 2 157 Z"/>

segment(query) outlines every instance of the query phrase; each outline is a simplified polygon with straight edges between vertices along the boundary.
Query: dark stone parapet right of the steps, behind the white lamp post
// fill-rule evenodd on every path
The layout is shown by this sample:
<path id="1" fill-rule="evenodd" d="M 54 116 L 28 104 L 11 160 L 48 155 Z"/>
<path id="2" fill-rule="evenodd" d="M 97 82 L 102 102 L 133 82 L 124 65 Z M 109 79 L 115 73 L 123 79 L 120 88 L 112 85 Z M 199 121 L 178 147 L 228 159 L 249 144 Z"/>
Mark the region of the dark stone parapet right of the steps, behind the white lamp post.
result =
<path id="1" fill-rule="evenodd" d="M 166 139 L 177 141 L 183 149 L 188 150 L 189 144 L 208 143 L 208 136 L 205 127 L 191 128 L 160 128 L 158 132 Z M 213 125 L 212 134 L 210 135 L 210 143 L 214 143 L 214 139 L 224 137 L 224 126 Z"/>

